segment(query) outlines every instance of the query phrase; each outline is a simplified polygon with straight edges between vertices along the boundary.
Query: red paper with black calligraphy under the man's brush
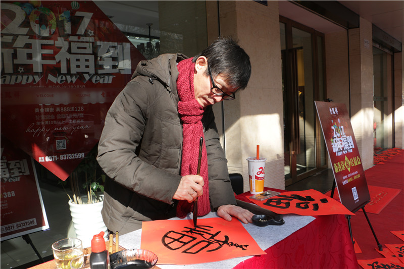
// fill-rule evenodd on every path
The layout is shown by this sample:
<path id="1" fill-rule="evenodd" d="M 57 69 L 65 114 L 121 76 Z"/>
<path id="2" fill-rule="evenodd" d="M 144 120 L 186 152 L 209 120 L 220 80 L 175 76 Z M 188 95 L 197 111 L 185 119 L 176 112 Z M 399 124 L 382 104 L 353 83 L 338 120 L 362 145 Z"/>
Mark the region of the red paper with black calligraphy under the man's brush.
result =
<path id="1" fill-rule="evenodd" d="M 143 222 L 141 248 L 157 254 L 157 264 L 195 264 L 265 252 L 242 224 L 232 218 Z"/>

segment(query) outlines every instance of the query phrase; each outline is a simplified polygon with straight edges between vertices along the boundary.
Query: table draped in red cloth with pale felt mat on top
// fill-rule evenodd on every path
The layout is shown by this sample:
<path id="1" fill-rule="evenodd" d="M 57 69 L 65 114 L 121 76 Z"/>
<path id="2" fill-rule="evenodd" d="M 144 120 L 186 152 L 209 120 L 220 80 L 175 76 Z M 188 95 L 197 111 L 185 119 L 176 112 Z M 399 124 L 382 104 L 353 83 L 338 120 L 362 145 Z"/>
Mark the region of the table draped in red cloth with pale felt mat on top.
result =
<path id="1" fill-rule="evenodd" d="M 285 192 L 284 190 L 265 188 Z M 237 199 L 250 202 L 249 192 L 239 194 Z M 214 216 L 214 217 L 213 217 Z M 300 218 L 302 217 L 302 218 Z M 309 217 L 309 218 L 308 218 Z M 210 212 L 200 218 L 218 218 L 217 214 Z M 246 256 L 233 259 L 224 259 L 216 262 L 205 262 L 188 265 L 158 264 L 162 269 L 181 268 L 359 268 L 355 255 L 354 246 L 349 235 L 346 217 L 344 215 L 327 216 L 297 216 L 294 214 L 284 215 L 285 224 L 276 229 L 263 229 L 252 224 L 246 224 L 250 229 L 250 235 L 258 242 L 271 242 L 262 247 L 266 254 Z M 172 218 L 170 220 L 177 220 Z M 192 220 L 191 213 L 185 218 Z M 181 219 L 178 219 L 181 220 Z M 300 222 L 300 223 L 296 223 Z M 245 227 L 244 227 L 245 228 Z M 259 229 L 256 229 L 259 228 Z M 273 228 L 273 227 L 266 227 Z M 267 231 L 282 229 L 285 236 L 271 234 Z M 254 230 L 254 232 L 253 232 Z M 258 230 L 258 237 L 257 237 Z M 278 230 L 279 231 L 279 230 Z M 290 232 L 290 233 L 289 233 Z M 251 233 L 254 233 L 252 235 Z M 271 237 L 272 236 L 272 237 Z M 142 229 L 124 234 L 119 237 L 119 245 L 126 249 L 141 248 Z M 282 238 L 275 240 L 276 238 Z M 153 249 L 149 249 L 153 251 Z M 158 254 L 159 255 L 159 254 Z"/>

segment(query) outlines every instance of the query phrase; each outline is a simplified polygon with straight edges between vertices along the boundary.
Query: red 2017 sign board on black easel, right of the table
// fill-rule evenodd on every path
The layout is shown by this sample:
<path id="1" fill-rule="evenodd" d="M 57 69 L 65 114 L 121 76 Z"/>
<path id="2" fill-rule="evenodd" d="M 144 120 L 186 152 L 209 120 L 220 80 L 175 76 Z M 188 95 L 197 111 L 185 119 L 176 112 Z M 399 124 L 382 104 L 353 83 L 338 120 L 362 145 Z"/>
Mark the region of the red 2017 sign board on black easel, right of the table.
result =
<path id="1" fill-rule="evenodd" d="M 354 131 L 343 103 L 315 101 L 341 203 L 355 212 L 370 201 Z"/>

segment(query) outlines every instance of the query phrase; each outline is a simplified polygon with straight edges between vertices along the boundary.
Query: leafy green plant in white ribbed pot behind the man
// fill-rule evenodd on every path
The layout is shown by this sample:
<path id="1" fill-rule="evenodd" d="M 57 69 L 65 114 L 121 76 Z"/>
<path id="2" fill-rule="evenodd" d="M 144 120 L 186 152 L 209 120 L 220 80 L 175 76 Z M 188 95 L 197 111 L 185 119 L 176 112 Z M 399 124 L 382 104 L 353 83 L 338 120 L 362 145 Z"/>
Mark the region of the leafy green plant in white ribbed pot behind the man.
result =
<path id="1" fill-rule="evenodd" d="M 91 246 L 93 235 L 104 231 L 108 240 L 108 229 L 101 216 L 103 208 L 104 186 L 106 175 L 96 160 L 97 145 L 84 157 L 72 172 L 68 180 L 72 196 L 69 197 L 69 208 L 76 237 L 81 239 L 83 247 Z M 65 182 L 67 185 L 67 182 Z M 66 189 L 65 189 L 66 191 Z"/>

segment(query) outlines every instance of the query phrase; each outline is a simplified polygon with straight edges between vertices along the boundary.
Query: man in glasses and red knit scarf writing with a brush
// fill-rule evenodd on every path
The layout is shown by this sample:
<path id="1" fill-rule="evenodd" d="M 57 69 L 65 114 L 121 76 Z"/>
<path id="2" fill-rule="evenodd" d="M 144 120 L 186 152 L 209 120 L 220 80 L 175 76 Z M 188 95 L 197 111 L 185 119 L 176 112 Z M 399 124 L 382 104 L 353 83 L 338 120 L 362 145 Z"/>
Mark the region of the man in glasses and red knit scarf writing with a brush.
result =
<path id="1" fill-rule="evenodd" d="M 103 219 L 125 234 L 143 221 L 184 218 L 198 197 L 198 215 L 243 223 L 254 215 L 236 206 L 212 104 L 235 98 L 251 74 L 249 57 L 231 39 L 199 56 L 164 54 L 138 64 L 105 120 L 97 160 L 110 177 Z M 200 175 L 196 175 L 203 137 Z"/>

